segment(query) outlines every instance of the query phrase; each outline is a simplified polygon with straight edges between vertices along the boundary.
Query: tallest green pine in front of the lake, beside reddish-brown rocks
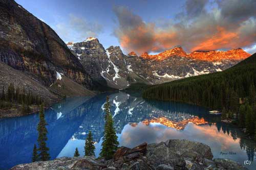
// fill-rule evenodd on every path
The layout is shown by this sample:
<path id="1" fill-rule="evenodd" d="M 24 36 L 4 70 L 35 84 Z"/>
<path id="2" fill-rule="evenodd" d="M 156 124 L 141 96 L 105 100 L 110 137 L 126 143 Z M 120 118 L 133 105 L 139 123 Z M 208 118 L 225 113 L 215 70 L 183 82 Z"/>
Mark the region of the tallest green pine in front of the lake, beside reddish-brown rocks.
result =
<path id="1" fill-rule="evenodd" d="M 104 127 L 104 136 L 102 142 L 102 149 L 100 156 L 105 159 L 113 158 L 115 152 L 118 149 L 119 142 L 117 140 L 116 131 L 114 128 L 114 121 L 112 114 L 110 112 L 110 102 L 109 96 L 106 97 L 106 103 L 104 105 L 105 110 L 105 127 Z"/>

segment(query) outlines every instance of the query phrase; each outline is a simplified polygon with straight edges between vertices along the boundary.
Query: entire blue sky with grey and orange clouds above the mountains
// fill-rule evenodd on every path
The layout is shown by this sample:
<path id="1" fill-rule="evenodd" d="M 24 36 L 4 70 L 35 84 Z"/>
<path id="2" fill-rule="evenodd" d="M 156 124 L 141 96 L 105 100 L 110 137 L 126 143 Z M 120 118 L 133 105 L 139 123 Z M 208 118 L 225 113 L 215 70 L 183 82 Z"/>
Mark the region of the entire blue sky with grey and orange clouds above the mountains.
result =
<path id="1" fill-rule="evenodd" d="M 96 37 L 124 53 L 155 54 L 175 46 L 196 50 L 242 47 L 256 52 L 255 0 L 16 0 L 65 41 Z"/>

